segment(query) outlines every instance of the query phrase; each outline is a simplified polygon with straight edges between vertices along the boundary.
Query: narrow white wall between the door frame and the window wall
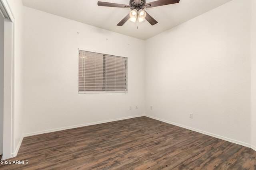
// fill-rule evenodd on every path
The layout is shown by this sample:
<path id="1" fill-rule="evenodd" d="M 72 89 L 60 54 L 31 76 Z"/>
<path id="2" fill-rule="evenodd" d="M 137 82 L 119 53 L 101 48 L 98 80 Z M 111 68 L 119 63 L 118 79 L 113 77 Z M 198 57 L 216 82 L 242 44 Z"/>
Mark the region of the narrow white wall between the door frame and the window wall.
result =
<path id="1" fill-rule="evenodd" d="M 22 58 L 23 58 L 23 4 L 22 0 L 7 0 L 14 16 L 13 22 L 13 75 L 12 75 L 12 156 L 16 156 L 22 142 Z"/>

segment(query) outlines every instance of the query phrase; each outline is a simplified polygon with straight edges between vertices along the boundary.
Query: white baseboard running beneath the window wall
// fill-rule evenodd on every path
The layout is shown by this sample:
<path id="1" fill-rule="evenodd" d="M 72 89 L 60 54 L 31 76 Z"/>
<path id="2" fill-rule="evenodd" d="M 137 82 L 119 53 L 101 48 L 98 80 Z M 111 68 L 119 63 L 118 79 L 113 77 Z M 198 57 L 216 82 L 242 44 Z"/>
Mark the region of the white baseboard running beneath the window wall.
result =
<path id="1" fill-rule="evenodd" d="M 98 124 L 101 124 L 101 123 L 108 123 L 108 122 L 112 122 L 112 121 L 131 119 L 131 118 L 142 117 L 142 116 L 145 116 L 145 115 L 134 115 L 134 116 L 121 117 L 121 118 L 110 119 L 110 120 L 105 120 L 105 121 L 97 121 L 97 122 L 93 122 L 93 123 L 85 123 L 85 124 L 81 124 L 81 125 L 73 125 L 73 126 L 68 126 L 68 127 L 49 129 L 49 130 L 45 130 L 45 131 L 37 131 L 37 132 L 32 132 L 32 133 L 26 133 L 26 134 L 24 134 L 24 137 L 33 136 L 33 135 L 40 135 L 40 134 L 43 134 L 43 133 L 62 131 L 62 130 L 66 130 L 66 129 L 73 129 L 73 128 L 77 128 L 77 127 L 84 127 L 84 126 L 90 126 L 90 125 L 98 125 Z"/>

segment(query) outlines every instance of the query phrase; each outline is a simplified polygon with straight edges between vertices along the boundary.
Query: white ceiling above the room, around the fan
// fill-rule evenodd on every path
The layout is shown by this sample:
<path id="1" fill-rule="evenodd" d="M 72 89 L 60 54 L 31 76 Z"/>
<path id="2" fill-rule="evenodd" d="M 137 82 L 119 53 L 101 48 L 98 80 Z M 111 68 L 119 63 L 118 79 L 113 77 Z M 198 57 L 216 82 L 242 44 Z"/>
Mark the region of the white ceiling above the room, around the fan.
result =
<path id="1" fill-rule="evenodd" d="M 129 0 L 100 0 L 118 4 L 129 4 Z M 146 0 L 152 2 L 154 0 Z M 117 26 L 129 12 L 129 8 L 98 6 L 98 0 L 23 0 L 23 5 L 57 16 L 79 21 L 138 39 L 146 40 L 180 23 L 208 12 L 231 0 L 180 0 L 180 3 L 158 6 L 146 10 L 158 23 L 147 21 L 138 24 L 127 21 Z"/>

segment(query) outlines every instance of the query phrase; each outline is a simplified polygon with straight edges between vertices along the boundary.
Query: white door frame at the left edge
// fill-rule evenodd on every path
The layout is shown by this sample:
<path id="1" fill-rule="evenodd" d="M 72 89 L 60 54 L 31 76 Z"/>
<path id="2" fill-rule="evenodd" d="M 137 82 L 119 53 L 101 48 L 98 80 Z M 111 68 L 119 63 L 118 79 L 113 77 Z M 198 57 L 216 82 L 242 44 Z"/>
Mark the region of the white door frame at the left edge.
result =
<path id="1" fill-rule="evenodd" d="M 3 156 L 12 157 L 12 117 L 13 117 L 13 22 L 14 17 L 6 0 L 0 0 L 4 7 L 4 117 L 3 117 Z"/>

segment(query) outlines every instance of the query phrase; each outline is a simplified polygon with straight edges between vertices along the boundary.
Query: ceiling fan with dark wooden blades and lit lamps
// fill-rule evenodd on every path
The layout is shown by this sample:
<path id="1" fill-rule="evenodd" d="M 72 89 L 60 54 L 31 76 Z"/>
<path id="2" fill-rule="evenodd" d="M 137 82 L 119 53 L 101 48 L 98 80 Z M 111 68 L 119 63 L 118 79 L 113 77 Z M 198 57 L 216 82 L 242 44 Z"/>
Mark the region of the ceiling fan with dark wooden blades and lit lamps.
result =
<path id="1" fill-rule="evenodd" d="M 180 0 L 156 0 L 153 2 L 146 3 L 146 0 L 130 0 L 130 5 L 125 5 L 98 1 L 98 6 L 130 8 L 132 11 L 117 24 L 118 26 L 124 25 L 124 23 L 126 23 L 126 21 L 128 21 L 129 19 L 135 22 L 137 18 L 137 21 L 139 22 L 147 20 L 151 25 L 155 25 L 157 21 L 152 16 L 150 16 L 146 11 L 144 11 L 144 8 L 176 4 L 179 2 Z"/>

